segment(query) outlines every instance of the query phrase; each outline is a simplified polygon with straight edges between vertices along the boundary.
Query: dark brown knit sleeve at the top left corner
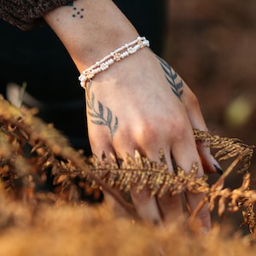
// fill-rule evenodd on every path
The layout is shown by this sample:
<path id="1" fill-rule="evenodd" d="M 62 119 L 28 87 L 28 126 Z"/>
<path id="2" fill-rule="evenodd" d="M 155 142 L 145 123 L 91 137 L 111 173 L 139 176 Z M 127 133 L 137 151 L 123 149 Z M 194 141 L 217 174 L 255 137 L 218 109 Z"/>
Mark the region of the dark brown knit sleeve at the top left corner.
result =
<path id="1" fill-rule="evenodd" d="M 44 24 L 43 15 L 71 0 L 0 0 L 0 18 L 22 30 Z"/>

